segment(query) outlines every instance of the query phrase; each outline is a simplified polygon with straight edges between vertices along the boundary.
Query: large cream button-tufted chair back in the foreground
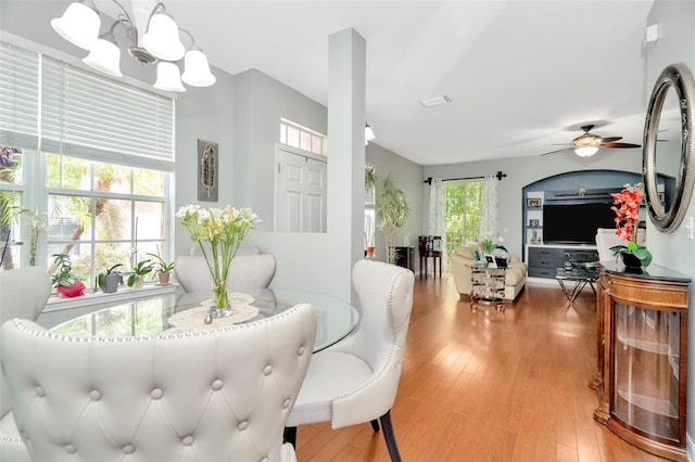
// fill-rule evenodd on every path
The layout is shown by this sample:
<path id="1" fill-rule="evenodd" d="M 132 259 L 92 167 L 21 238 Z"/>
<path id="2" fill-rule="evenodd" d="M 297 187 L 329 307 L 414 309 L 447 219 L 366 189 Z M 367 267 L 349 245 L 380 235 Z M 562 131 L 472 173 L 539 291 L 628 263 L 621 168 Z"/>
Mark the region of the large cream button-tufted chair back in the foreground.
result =
<path id="1" fill-rule="evenodd" d="M 14 419 L 35 461 L 295 461 L 282 432 L 316 312 L 129 338 L 2 326 Z M 4 462 L 4 461 L 3 461 Z"/>

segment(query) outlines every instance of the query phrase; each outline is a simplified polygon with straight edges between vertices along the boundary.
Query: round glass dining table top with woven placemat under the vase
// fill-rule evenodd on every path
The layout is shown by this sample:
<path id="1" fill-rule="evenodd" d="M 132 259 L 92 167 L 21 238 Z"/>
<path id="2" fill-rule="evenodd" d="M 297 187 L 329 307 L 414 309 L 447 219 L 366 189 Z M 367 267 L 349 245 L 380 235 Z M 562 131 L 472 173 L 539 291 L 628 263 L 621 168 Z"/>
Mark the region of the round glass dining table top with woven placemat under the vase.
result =
<path id="1" fill-rule="evenodd" d="M 244 310 L 244 316 L 239 318 L 239 321 L 217 318 L 213 319 L 212 323 L 205 323 L 211 292 L 186 293 L 179 287 L 176 293 L 132 300 L 78 316 L 53 326 L 50 331 L 100 337 L 193 332 L 230 325 L 232 322 L 253 322 L 270 318 L 296 304 L 307 303 L 314 306 L 317 315 L 314 343 L 316 352 L 346 337 L 359 321 L 359 315 L 352 305 L 323 294 L 265 288 L 231 295 L 232 312 L 235 303 L 239 303 L 240 310 Z"/>

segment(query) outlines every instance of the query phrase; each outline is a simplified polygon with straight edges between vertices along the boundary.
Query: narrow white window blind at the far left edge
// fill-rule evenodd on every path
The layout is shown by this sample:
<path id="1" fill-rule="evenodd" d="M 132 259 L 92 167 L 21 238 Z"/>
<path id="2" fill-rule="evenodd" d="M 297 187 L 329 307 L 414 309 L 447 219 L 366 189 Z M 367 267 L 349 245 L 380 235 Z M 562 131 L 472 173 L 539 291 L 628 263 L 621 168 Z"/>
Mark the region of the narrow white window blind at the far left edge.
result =
<path id="1" fill-rule="evenodd" d="M 0 42 L 0 144 L 38 145 L 39 55 Z"/>

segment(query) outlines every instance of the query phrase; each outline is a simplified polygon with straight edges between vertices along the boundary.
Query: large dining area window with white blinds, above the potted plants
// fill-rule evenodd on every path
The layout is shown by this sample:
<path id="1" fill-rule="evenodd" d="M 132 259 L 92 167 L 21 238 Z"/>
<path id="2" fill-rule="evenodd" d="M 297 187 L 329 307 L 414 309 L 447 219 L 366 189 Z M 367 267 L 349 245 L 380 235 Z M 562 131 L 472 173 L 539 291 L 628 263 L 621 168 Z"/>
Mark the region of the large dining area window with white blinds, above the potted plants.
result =
<path id="1" fill-rule="evenodd" d="M 0 221 L 3 268 L 37 246 L 37 265 L 50 272 L 53 254 L 70 254 L 89 286 L 147 253 L 167 259 L 173 100 L 9 43 L 0 79 L 0 211 L 26 209 Z"/>

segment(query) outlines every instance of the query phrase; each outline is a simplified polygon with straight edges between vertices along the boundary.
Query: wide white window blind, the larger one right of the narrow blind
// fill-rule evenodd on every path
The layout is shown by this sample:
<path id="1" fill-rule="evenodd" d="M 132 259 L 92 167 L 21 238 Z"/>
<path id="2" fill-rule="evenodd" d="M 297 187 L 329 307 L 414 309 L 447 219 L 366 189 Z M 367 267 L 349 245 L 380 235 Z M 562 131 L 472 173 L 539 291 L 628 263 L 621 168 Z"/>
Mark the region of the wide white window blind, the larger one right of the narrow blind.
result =
<path id="1" fill-rule="evenodd" d="M 174 101 L 45 56 L 41 150 L 174 169 Z"/>

